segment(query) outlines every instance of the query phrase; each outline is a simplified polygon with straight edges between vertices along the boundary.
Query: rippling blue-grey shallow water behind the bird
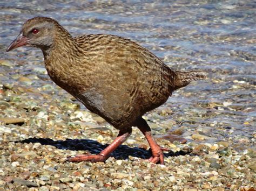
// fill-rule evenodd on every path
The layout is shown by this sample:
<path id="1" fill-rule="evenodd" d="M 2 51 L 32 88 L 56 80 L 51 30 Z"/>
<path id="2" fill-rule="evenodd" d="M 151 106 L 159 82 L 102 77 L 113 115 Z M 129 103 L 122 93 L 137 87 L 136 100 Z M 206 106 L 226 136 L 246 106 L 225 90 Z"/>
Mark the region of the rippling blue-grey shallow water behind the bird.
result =
<path id="1" fill-rule="evenodd" d="M 183 116 L 171 129 L 179 129 L 180 124 L 198 132 L 210 128 L 208 136 L 232 137 L 237 142 L 241 135 L 255 137 L 256 2 L 50 2 L 0 2 L 0 59 L 14 63 L 12 68 L 0 65 L 2 85 L 18 84 L 14 75 L 35 74 L 33 68 L 43 68 L 38 49 L 18 48 L 9 53 L 5 49 L 26 19 L 48 16 L 73 36 L 116 34 L 137 41 L 173 69 L 207 72 L 208 80 L 176 91 L 165 104 L 174 111 L 166 118 Z M 51 83 L 47 75 L 40 77 L 43 80 L 32 87 Z"/>

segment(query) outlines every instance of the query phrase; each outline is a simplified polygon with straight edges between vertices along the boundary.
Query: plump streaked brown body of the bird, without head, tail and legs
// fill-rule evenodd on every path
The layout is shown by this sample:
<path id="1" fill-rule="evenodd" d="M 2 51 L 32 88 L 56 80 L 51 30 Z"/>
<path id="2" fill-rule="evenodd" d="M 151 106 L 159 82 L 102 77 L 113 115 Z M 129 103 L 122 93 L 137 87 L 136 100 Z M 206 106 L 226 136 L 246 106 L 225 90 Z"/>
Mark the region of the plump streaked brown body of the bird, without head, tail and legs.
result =
<path id="1" fill-rule="evenodd" d="M 178 75 L 157 56 L 129 39 L 89 34 L 73 40 L 79 54 L 70 51 L 73 54 L 62 55 L 65 59 L 61 61 L 56 55 L 46 63 L 58 66 L 51 67 L 55 71 L 48 71 L 49 75 L 117 129 L 132 125 L 136 118 L 165 103 L 173 90 L 184 86 L 183 82 L 176 86 Z"/>

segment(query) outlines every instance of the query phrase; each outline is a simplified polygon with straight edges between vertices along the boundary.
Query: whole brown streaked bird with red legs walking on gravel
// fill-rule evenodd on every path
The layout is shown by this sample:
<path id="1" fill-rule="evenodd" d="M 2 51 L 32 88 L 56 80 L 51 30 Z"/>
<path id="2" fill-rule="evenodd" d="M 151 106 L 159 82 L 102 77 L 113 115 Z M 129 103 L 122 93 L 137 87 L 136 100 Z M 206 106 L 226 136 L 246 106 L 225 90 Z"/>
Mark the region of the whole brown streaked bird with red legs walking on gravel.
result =
<path id="1" fill-rule="evenodd" d="M 56 20 L 35 17 L 6 51 L 20 46 L 42 49 L 50 78 L 119 130 L 113 143 L 97 155 L 76 155 L 68 161 L 105 161 L 131 135 L 144 134 L 152 150 L 149 161 L 164 164 L 163 151 L 142 116 L 164 104 L 174 90 L 205 78 L 198 71 L 171 70 L 148 49 L 110 34 L 72 37 Z"/>

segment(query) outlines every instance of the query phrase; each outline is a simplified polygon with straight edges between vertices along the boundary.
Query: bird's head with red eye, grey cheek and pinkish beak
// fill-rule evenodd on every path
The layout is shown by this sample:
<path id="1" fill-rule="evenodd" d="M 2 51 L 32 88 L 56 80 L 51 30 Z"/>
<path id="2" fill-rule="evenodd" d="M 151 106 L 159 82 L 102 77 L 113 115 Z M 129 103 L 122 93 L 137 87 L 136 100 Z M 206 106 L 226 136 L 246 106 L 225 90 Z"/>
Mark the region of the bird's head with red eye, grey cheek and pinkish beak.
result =
<path id="1" fill-rule="evenodd" d="M 59 24 L 56 20 L 48 17 L 34 17 L 27 20 L 19 33 L 18 37 L 12 41 L 7 52 L 21 46 L 32 46 L 48 49 L 53 44 L 56 27 Z"/>

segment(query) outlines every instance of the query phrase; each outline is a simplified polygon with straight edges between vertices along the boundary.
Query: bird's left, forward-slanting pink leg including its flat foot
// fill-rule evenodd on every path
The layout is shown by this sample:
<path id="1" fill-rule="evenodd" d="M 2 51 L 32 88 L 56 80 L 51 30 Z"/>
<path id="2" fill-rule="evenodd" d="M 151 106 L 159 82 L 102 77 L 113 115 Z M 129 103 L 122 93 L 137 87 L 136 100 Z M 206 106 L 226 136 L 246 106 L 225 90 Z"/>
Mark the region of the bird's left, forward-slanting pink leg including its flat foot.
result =
<path id="1" fill-rule="evenodd" d="M 80 161 L 91 161 L 91 162 L 105 162 L 109 158 L 110 154 L 116 150 L 116 148 L 125 142 L 125 140 L 131 135 L 132 128 L 119 131 L 119 134 L 114 141 L 107 146 L 102 152 L 97 155 L 86 155 L 80 154 L 75 157 L 69 157 L 67 160 L 69 162 L 80 162 Z"/>

